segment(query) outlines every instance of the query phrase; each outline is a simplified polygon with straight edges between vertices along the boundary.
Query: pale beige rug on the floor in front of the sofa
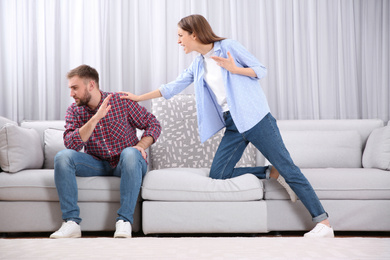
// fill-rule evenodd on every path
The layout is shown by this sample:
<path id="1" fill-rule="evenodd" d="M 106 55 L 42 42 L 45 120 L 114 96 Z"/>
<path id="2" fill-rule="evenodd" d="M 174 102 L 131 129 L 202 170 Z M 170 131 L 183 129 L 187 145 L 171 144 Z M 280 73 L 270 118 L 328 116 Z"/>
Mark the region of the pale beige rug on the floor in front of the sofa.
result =
<path id="1" fill-rule="evenodd" d="M 390 238 L 0 239 L 0 259 L 390 259 Z"/>

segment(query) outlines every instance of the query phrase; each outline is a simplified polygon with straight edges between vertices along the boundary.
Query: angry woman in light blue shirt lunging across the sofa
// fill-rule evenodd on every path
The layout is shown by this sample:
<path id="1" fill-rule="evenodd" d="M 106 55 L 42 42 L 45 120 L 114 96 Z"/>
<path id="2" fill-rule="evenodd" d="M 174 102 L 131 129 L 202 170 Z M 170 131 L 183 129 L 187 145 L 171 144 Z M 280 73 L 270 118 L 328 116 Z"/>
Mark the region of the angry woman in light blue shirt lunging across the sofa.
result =
<path id="1" fill-rule="evenodd" d="M 194 83 L 201 141 L 226 127 L 210 177 L 227 179 L 252 173 L 260 179 L 275 178 L 292 201 L 296 201 L 298 195 L 317 223 L 305 237 L 334 237 L 328 214 L 306 177 L 293 163 L 270 113 L 258 83 L 266 75 L 266 68 L 238 42 L 215 35 L 201 15 L 181 19 L 178 37 L 178 44 L 186 54 L 200 53 L 192 64 L 175 81 L 155 91 L 140 96 L 123 92 L 122 98 L 143 101 L 163 96 L 169 99 Z M 235 168 L 249 142 L 274 167 Z"/>

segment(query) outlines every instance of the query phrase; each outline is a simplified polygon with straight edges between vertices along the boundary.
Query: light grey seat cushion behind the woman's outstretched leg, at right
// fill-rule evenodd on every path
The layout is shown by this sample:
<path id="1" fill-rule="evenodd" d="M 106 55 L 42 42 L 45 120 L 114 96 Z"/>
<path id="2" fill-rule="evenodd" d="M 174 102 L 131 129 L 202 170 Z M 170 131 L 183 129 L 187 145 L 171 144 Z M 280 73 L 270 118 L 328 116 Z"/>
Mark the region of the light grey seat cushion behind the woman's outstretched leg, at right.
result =
<path id="1" fill-rule="evenodd" d="M 388 200 L 390 174 L 379 169 L 302 169 L 321 200 Z M 274 179 L 264 180 L 266 200 L 288 200 Z"/>

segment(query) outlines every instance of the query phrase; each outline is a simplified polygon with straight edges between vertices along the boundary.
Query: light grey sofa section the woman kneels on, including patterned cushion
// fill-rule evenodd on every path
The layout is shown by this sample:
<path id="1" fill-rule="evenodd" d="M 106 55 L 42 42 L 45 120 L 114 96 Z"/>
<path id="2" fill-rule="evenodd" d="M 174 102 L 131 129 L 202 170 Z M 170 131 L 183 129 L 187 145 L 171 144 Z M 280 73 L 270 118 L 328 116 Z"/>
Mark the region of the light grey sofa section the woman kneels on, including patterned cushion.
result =
<path id="1" fill-rule="evenodd" d="M 303 204 L 292 203 L 275 180 L 250 174 L 230 180 L 207 177 L 222 132 L 199 143 L 193 96 L 155 100 L 152 113 L 163 130 L 151 147 L 152 171 L 142 188 L 145 234 L 314 226 Z M 381 120 L 280 120 L 278 125 L 336 231 L 390 231 L 390 126 Z M 248 147 L 240 166 L 267 165 L 256 151 Z"/>

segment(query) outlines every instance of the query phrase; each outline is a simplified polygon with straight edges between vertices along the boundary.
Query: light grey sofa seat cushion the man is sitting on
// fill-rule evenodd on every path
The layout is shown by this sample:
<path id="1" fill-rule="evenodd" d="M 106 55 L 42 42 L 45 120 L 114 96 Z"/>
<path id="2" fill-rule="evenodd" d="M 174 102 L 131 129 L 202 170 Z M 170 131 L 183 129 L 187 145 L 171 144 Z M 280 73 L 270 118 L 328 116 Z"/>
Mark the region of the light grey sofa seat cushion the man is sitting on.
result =
<path id="1" fill-rule="evenodd" d="M 79 202 L 119 202 L 119 177 L 76 177 Z M 2 201 L 58 201 L 54 170 L 0 173 Z"/>

